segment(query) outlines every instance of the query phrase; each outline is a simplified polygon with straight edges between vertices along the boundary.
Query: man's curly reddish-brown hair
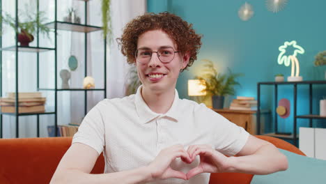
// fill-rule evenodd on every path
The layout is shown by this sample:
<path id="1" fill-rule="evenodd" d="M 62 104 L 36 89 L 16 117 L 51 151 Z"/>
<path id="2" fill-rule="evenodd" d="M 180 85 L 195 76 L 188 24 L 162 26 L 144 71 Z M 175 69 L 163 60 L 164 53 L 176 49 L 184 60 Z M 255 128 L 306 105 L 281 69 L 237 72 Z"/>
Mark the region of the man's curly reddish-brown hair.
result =
<path id="1" fill-rule="evenodd" d="M 179 52 L 183 54 L 189 52 L 189 63 L 184 70 L 192 66 L 201 48 L 202 36 L 196 34 L 192 28 L 192 24 L 188 24 L 180 17 L 168 12 L 158 14 L 146 13 L 136 17 L 125 25 L 123 35 L 116 40 L 121 46 L 122 54 L 127 56 L 127 62 L 130 64 L 135 62 L 134 53 L 137 49 L 139 36 L 146 31 L 156 29 L 160 29 L 167 33 L 174 43 L 176 43 Z"/>

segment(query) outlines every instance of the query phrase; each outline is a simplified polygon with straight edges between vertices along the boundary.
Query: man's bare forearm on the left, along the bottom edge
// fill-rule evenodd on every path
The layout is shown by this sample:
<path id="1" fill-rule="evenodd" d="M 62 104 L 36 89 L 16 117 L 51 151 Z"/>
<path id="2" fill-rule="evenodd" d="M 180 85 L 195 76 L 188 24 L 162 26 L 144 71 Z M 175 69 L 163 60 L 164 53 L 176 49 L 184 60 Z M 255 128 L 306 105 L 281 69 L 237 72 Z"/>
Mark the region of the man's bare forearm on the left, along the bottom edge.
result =
<path id="1" fill-rule="evenodd" d="M 139 167 L 130 171 L 121 171 L 109 174 L 86 174 L 75 169 L 62 169 L 54 174 L 51 183 L 147 183 L 152 176 L 147 167 Z"/>

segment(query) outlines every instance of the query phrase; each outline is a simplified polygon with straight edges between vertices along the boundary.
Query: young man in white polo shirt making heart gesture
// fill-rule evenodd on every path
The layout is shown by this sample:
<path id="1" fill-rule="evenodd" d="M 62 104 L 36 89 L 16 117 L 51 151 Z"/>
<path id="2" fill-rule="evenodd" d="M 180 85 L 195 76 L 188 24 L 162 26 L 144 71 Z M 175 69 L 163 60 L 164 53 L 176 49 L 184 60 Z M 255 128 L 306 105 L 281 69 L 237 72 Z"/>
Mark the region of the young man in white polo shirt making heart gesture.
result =
<path id="1" fill-rule="evenodd" d="M 127 24 L 118 40 L 142 86 L 88 112 L 52 183 L 208 183 L 210 173 L 270 174 L 288 167 L 272 144 L 205 105 L 178 98 L 178 75 L 201 46 L 191 24 L 150 13 Z M 89 174 L 102 151 L 104 174 Z"/>

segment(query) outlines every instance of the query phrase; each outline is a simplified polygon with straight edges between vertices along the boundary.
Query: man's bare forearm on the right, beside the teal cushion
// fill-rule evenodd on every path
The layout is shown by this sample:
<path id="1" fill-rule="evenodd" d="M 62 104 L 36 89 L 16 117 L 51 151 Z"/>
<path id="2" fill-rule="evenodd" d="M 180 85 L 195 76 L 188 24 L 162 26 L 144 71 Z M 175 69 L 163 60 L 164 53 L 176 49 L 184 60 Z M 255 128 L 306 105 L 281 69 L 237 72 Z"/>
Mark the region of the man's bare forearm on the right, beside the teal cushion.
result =
<path id="1" fill-rule="evenodd" d="M 288 160 L 272 144 L 261 146 L 256 153 L 240 157 L 230 157 L 226 172 L 247 174 L 272 174 L 288 168 Z"/>

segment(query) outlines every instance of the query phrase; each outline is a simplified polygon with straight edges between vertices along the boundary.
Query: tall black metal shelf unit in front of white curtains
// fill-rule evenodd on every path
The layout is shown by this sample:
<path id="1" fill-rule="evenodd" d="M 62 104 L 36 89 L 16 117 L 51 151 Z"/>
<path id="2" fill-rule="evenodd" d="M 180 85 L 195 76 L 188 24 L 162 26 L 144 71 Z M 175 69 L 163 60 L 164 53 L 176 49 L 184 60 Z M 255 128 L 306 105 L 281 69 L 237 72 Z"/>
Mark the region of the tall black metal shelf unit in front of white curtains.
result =
<path id="1" fill-rule="evenodd" d="M 18 3 L 19 0 L 15 0 L 15 21 L 16 21 L 16 27 L 18 25 L 18 21 L 17 21 L 17 17 L 18 17 Z M 0 35 L 0 70 L 1 70 L 1 76 L 0 76 L 0 96 L 2 96 L 2 52 L 15 52 L 15 109 L 16 112 L 15 113 L 2 113 L 0 111 L 0 138 L 3 137 L 3 115 L 8 115 L 8 116 L 15 116 L 15 124 L 16 124 L 16 137 L 19 137 L 19 118 L 18 116 L 37 116 L 37 137 L 40 137 L 40 115 L 49 115 L 52 114 L 54 115 L 54 131 L 55 131 L 55 135 L 57 136 L 57 128 L 58 128 L 58 122 L 57 122 L 57 112 L 58 112 L 58 93 L 60 91 L 84 91 L 84 114 L 86 115 L 87 113 L 87 91 L 103 91 L 104 93 L 104 98 L 107 98 L 107 75 L 106 75 L 106 68 L 107 68 L 107 63 L 106 63 L 106 58 L 107 58 L 107 53 L 106 53 L 106 49 L 107 49 L 107 40 L 104 39 L 104 88 L 102 89 L 59 89 L 58 86 L 58 77 L 57 77 L 57 73 L 58 73 L 58 68 L 57 68 L 57 32 L 59 30 L 61 31 L 72 31 L 72 32 L 79 32 L 79 33 L 84 33 L 84 39 L 85 39 L 85 43 L 84 43 L 84 48 L 85 48 L 85 53 L 84 53 L 84 61 L 85 61 L 85 70 L 84 70 L 84 77 L 87 76 L 87 34 L 91 33 L 93 31 L 101 31 L 102 27 L 100 26 L 92 26 L 92 25 L 88 25 L 87 22 L 87 9 L 88 9 L 88 1 L 89 0 L 79 0 L 79 1 L 84 1 L 84 20 L 85 23 L 84 24 L 75 24 L 75 23 L 71 23 L 71 22 L 61 22 L 57 20 L 57 7 L 58 7 L 58 2 L 57 0 L 53 0 L 54 1 L 54 22 L 49 22 L 46 25 L 50 28 L 54 30 L 54 47 L 53 48 L 48 48 L 48 47 L 39 47 L 39 33 L 37 32 L 37 43 L 36 43 L 36 47 L 33 46 L 29 46 L 29 47 L 25 47 L 25 46 L 20 46 L 18 45 L 18 33 L 15 34 L 15 45 L 10 46 L 10 47 L 2 47 L 2 38 Z M 0 12 L 2 13 L 2 9 L 1 6 L 2 5 L 2 1 L 0 0 Z M 39 11 L 39 0 L 37 0 L 37 11 Z M 1 28 L 1 24 L 0 24 L 0 28 Z M 20 52 L 30 52 L 30 53 L 36 53 L 37 54 L 37 91 L 54 91 L 54 110 L 48 111 L 47 108 L 45 110 L 45 112 L 33 112 L 33 113 L 19 113 L 18 112 L 18 93 L 19 93 L 19 89 L 18 89 L 18 54 Z M 40 70 L 39 70 L 39 52 L 54 52 L 54 85 L 55 88 L 54 89 L 43 89 L 40 88 L 39 86 L 39 82 L 40 82 Z"/>

